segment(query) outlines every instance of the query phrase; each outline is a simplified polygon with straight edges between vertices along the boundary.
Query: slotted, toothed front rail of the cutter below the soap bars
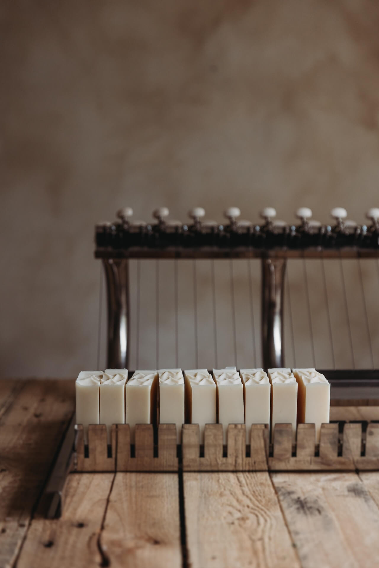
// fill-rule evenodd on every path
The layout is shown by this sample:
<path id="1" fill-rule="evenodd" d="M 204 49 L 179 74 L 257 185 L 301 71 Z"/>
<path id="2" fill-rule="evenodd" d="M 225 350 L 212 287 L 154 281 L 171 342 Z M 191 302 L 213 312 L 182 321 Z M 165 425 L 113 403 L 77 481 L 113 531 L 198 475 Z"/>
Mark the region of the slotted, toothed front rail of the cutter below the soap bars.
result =
<path id="1" fill-rule="evenodd" d="M 152 424 L 139 424 L 135 445 L 130 444 L 128 424 L 114 424 L 111 451 L 106 427 L 88 429 L 88 448 L 81 424 L 76 425 L 74 471 L 348 471 L 379 470 L 379 423 L 323 424 L 320 444 L 315 445 L 315 425 L 299 424 L 297 443 L 292 442 L 290 424 L 276 424 L 269 444 L 268 425 L 253 424 L 247 446 L 245 425 L 228 426 L 228 443 L 223 446 L 222 424 L 207 424 L 204 445 L 199 444 L 197 424 L 184 424 L 182 444 L 177 448 L 176 426 L 160 424 L 157 444 Z M 88 449 L 88 453 L 85 454 Z M 181 461 L 178 459 L 181 455 Z"/>

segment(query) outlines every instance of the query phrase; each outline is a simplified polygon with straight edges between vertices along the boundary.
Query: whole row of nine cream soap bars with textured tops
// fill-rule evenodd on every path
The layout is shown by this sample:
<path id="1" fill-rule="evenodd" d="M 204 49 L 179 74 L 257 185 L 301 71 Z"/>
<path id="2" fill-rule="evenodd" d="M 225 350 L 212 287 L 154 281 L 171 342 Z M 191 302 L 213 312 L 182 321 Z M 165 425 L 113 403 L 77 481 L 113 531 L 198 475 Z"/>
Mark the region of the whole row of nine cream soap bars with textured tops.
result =
<path id="1" fill-rule="evenodd" d="M 329 421 L 330 383 L 315 369 L 126 369 L 82 371 L 76 380 L 76 420 L 106 424 L 110 442 L 112 424 L 129 424 L 134 443 L 136 424 L 176 424 L 180 443 L 183 423 L 199 424 L 203 442 L 205 424 L 290 423 L 295 440 L 297 423 L 314 423 L 316 442 L 322 423 Z"/>

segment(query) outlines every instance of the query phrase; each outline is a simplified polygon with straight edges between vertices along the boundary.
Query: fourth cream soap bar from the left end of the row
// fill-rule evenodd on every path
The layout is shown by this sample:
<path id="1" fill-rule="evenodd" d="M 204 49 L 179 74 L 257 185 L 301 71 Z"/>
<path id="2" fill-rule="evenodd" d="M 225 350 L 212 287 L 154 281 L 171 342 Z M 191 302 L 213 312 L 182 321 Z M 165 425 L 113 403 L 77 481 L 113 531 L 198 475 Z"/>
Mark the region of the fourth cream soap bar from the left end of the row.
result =
<path id="1" fill-rule="evenodd" d="M 181 369 L 159 371 L 159 421 L 176 424 L 177 443 L 180 444 L 184 424 L 184 378 Z"/>

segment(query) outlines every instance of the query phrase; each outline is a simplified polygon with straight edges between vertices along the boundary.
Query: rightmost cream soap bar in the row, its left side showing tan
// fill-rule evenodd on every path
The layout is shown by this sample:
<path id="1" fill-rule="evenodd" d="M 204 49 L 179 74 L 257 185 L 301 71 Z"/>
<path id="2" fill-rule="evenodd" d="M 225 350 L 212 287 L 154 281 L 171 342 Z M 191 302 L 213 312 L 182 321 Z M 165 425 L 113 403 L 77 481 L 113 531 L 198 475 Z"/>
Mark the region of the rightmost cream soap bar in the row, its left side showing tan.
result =
<path id="1" fill-rule="evenodd" d="M 321 424 L 329 422 L 330 383 L 315 369 L 293 369 L 298 384 L 298 423 L 315 424 L 316 443 Z"/>

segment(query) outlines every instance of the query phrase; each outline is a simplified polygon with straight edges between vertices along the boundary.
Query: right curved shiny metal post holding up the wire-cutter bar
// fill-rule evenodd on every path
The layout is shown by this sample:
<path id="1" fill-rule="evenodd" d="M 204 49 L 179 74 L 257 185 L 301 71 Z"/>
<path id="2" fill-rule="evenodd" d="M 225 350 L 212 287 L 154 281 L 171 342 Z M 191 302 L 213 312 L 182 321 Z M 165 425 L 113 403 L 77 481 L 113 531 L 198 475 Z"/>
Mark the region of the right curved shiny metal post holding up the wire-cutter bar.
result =
<path id="1" fill-rule="evenodd" d="M 262 349 L 265 369 L 284 367 L 285 271 L 285 258 L 262 258 Z"/>

